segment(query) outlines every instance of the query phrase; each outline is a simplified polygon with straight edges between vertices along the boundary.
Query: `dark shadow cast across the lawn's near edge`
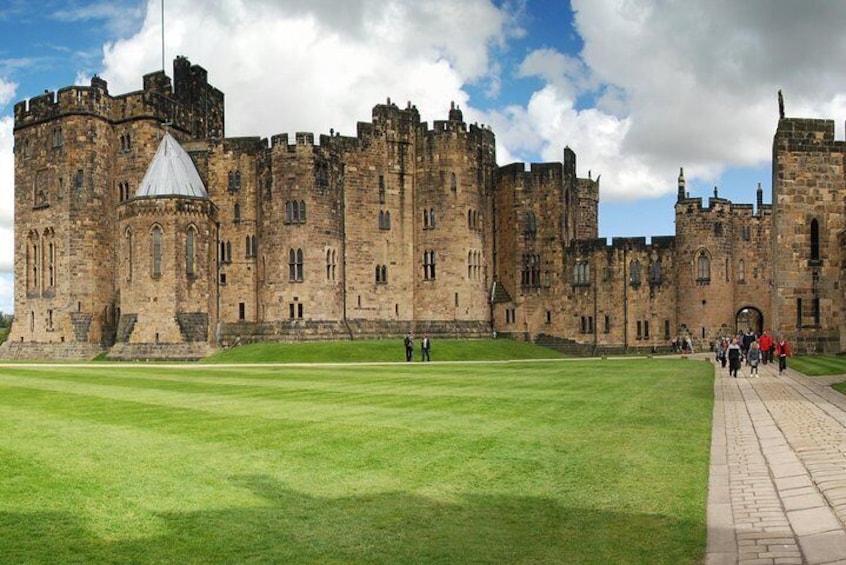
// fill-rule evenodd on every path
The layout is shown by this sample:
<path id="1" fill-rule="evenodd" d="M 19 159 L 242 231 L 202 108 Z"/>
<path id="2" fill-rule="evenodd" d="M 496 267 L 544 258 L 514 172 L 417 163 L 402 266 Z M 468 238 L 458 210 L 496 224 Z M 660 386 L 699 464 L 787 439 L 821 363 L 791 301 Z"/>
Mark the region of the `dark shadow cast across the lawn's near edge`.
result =
<path id="1" fill-rule="evenodd" d="M 167 534 L 105 540 L 70 513 L 0 513 L 2 563 L 701 563 L 705 525 L 562 508 L 530 497 L 460 503 L 386 493 L 304 496 L 233 482 L 265 505 L 165 513 Z"/>

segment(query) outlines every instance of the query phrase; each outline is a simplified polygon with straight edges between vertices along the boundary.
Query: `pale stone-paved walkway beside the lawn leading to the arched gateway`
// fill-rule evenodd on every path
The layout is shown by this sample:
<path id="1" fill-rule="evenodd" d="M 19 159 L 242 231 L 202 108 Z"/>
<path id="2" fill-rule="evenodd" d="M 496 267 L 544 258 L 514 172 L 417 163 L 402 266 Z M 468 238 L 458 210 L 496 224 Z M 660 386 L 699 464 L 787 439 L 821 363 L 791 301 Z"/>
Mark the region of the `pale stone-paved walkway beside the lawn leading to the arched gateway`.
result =
<path id="1" fill-rule="evenodd" d="M 706 565 L 846 565 L 846 376 L 716 365 Z"/>

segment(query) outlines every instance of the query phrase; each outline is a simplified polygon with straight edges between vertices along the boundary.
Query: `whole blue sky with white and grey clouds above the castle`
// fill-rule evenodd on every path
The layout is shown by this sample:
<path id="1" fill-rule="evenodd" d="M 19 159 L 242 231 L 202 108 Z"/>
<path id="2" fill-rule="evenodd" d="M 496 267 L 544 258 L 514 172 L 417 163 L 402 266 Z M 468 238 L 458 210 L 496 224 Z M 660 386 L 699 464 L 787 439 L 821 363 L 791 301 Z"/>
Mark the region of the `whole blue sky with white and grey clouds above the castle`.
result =
<path id="1" fill-rule="evenodd" d="M 577 155 L 600 236 L 671 235 L 691 196 L 770 202 L 777 92 L 846 119 L 846 3 L 818 0 L 164 0 L 165 70 L 203 66 L 226 134 L 353 135 L 386 98 L 429 122 L 455 101 L 500 164 Z M 0 2 L 0 310 L 12 298 L 16 102 L 98 74 L 112 94 L 162 67 L 162 0 Z"/>

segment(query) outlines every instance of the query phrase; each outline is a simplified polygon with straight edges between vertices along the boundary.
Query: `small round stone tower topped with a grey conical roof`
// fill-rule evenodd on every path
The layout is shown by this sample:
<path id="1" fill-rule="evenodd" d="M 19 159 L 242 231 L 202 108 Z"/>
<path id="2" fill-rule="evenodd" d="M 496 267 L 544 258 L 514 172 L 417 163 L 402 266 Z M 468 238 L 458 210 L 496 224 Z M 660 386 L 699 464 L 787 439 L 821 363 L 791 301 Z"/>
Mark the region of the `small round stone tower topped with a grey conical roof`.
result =
<path id="1" fill-rule="evenodd" d="M 216 215 L 169 133 L 118 208 L 120 319 L 112 358 L 197 358 L 216 323 Z"/>

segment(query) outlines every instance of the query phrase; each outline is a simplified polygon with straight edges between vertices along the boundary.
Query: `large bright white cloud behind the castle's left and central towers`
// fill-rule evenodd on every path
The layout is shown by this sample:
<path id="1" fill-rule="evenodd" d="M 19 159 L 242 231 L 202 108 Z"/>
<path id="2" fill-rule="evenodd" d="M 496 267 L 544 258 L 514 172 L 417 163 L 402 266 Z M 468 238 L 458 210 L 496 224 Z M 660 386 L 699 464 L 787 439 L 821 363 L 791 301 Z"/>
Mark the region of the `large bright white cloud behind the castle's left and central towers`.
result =
<path id="1" fill-rule="evenodd" d="M 137 90 L 143 74 L 161 67 L 156 6 L 148 4 L 136 34 L 105 46 L 110 91 Z M 388 97 L 400 106 L 411 101 L 428 121 L 445 119 L 452 101 L 466 105 L 462 87 L 495 68 L 485 46 L 512 25 L 508 13 L 482 0 L 173 0 L 166 72 L 178 54 L 209 71 L 226 95 L 227 135 L 330 128 L 355 135 L 356 122 L 369 121 L 373 105 Z"/>

